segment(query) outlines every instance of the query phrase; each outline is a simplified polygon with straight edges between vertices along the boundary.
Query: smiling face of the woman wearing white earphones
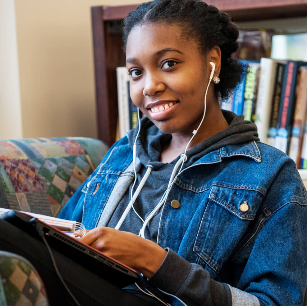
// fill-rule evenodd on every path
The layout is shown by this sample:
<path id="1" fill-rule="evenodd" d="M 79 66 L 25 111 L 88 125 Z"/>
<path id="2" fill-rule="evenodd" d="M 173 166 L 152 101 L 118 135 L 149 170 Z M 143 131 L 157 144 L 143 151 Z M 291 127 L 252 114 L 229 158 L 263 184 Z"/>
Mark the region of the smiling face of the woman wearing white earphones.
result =
<path id="1" fill-rule="evenodd" d="M 208 55 L 200 54 L 178 26 L 134 27 L 127 39 L 126 67 L 132 101 L 160 131 L 190 134 L 198 127 L 211 66 Z"/>

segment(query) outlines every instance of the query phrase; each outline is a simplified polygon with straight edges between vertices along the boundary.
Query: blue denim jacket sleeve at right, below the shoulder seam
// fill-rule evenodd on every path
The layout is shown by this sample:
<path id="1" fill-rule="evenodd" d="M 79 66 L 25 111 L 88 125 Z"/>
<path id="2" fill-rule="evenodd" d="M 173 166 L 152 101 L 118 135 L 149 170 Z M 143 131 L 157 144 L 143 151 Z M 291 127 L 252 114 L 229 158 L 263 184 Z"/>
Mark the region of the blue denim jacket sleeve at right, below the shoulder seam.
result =
<path id="1" fill-rule="evenodd" d="M 290 200 L 266 211 L 257 232 L 232 262 L 240 270 L 236 288 L 255 295 L 261 305 L 302 305 L 306 290 L 306 205 Z"/>

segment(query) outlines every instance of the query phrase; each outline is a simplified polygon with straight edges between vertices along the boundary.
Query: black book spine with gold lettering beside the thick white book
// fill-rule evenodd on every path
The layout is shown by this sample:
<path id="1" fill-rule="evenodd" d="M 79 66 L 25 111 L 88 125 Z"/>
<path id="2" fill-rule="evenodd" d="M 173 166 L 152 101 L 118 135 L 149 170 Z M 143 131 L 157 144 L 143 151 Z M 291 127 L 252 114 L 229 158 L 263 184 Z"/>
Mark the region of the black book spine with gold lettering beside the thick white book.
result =
<path id="1" fill-rule="evenodd" d="M 277 64 L 277 74 L 276 81 L 274 86 L 274 95 L 272 101 L 272 112 L 271 112 L 271 121 L 268 129 L 268 138 L 267 143 L 271 146 L 275 145 L 275 137 L 277 135 L 277 119 L 278 119 L 278 110 L 280 105 L 280 98 L 282 93 L 282 79 L 285 71 L 286 63 Z"/>

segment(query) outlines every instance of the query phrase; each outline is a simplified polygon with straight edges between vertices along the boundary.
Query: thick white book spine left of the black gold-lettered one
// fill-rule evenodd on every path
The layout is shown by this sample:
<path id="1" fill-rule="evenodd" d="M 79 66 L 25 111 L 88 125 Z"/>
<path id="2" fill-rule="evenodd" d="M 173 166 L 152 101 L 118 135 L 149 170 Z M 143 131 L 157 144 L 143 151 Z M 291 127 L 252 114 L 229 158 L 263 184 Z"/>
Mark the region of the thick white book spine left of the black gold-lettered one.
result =
<path id="1" fill-rule="evenodd" d="M 255 121 L 260 141 L 267 143 L 272 98 L 276 79 L 277 61 L 270 58 L 261 58 L 259 86 L 256 101 Z"/>

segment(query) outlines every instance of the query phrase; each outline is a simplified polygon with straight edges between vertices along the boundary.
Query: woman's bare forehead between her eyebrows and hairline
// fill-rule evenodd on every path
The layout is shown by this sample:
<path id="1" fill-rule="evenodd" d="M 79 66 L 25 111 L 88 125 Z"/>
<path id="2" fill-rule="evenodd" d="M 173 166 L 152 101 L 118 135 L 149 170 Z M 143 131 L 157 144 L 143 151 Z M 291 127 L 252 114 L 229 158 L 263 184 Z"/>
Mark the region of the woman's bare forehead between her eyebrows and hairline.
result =
<path id="1" fill-rule="evenodd" d="M 128 35 L 126 59 L 137 58 L 137 55 L 153 55 L 160 50 L 174 48 L 183 54 L 198 54 L 199 48 L 193 39 L 182 34 L 176 24 L 146 23 L 135 26 Z"/>

